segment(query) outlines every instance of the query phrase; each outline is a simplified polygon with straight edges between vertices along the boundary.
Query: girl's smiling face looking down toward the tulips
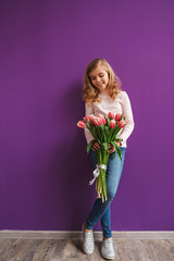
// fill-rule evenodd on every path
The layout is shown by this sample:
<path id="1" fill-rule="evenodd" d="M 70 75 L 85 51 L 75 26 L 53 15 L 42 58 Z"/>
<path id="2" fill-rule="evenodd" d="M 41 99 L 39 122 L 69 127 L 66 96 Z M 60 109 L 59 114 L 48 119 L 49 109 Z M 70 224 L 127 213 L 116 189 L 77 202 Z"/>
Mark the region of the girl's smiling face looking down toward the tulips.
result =
<path id="1" fill-rule="evenodd" d="M 89 73 L 90 80 L 92 85 L 98 88 L 100 91 L 104 91 L 108 84 L 109 77 L 108 72 L 104 70 L 102 65 L 98 65 Z"/>

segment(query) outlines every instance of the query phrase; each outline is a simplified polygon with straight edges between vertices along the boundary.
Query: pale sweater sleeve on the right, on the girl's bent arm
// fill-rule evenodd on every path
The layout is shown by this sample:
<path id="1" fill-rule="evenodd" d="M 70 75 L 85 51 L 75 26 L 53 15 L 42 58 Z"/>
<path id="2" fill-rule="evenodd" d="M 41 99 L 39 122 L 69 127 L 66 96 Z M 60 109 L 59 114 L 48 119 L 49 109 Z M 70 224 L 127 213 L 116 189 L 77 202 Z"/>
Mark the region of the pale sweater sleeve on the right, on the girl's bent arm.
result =
<path id="1" fill-rule="evenodd" d="M 123 128 L 123 132 L 121 133 L 120 138 L 122 138 L 123 141 L 126 141 L 126 139 L 132 134 L 132 132 L 134 129 L 134 125 L 135 125 L 130 101 L 129 101 L 129 98 L 128 98 L 126 91 L 124 91 L 124 96 L 123 96 L 123 101 L 122 102 L 123 102 L 122 103 L 123 116 L 125 117 L 126 125 Z"/>

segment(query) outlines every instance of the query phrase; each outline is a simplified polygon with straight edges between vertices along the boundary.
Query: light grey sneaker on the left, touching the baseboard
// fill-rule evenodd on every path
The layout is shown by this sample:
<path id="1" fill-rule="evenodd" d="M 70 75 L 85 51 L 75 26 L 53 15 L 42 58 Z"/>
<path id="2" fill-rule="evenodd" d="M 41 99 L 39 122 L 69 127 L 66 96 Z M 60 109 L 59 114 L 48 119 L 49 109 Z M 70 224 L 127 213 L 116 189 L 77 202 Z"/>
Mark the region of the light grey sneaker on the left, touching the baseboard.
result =
<path id="1" fill-rule="evenodd" d="M 84 241 L 83 241 L 83 249 L 85 253 L 92 253 L 94 252 L 94 233 L 91 232 L 85 232 L 85 224 L 82 226 L 83 228 L 83 236 L 84 236 Z"/>

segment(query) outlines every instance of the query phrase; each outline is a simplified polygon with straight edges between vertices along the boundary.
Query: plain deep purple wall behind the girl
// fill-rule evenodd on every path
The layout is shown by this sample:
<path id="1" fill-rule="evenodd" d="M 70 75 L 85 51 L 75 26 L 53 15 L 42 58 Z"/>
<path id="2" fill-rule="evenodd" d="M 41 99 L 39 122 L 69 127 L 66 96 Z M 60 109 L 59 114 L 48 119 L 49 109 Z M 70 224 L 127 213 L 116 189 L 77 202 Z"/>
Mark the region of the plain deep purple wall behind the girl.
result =
<path id="1" fill-rule="evenodd" d="M 76 122 L 98 57 L 121 77 L 136 123 L 112 228 L 174 229 L 173 25 L 173 0 L 0 2 L 1 229 L 80 229 L 96 191 Z"/>

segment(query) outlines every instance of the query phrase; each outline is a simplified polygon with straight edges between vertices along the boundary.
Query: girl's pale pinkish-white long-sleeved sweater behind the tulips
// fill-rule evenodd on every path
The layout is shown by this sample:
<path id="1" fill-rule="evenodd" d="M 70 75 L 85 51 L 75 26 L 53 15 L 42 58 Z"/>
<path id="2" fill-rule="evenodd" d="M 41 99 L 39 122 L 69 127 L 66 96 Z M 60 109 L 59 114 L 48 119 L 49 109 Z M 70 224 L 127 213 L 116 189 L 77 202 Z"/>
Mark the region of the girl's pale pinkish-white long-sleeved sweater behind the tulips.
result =
<path id="1" fill-rule="evenodd" d="M 85 115 L 108 115 L 109 112 L 113 112 L 114 114 L 123 114 L 126 125 L 120 130 L 117 137 L 123 139 L 122 147 L 127 147 L 126 140 L 134 129 L 134 119 L 130 101 L 126 91 L 121 91 L 116 96 L 115 100 L 113 100 L 107 92 L 101 92 L 100 97 L 101 102 L 94 102 L 90 107 L 85 103 Z M 94 139 L 92 135 L 87 128 L 85 128 L 85 137 L 88 144 Z"/>

